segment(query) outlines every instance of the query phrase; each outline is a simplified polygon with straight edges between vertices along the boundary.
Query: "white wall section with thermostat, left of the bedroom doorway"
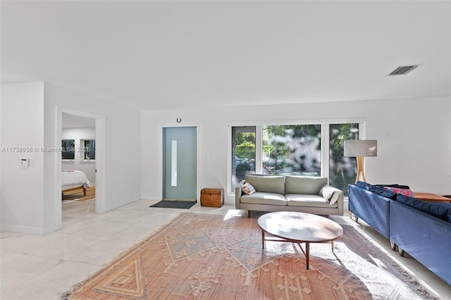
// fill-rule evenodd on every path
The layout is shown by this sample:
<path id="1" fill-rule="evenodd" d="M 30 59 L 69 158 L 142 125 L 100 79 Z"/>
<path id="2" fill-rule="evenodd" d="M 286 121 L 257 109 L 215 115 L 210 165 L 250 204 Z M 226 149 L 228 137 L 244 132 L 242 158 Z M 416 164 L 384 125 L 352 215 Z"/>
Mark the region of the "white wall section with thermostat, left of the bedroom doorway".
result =
<path id="1" fill-rule="evenodd" d="M 42 234 L 44 154 L 35 147 L 44 146 L 44 82 L 1 85 L 0 137 L 1 230 Z M 20 168 L 19 158 L 35 166 Z"/>

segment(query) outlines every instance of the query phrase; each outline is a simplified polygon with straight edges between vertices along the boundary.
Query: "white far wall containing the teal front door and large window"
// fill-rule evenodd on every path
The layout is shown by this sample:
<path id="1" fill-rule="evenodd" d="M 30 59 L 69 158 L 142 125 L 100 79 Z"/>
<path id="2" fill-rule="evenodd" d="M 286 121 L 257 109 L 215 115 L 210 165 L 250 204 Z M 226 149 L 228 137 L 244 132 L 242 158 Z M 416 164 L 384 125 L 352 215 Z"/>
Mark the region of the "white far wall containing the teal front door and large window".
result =
<path id="1" fill-rule="evenodd" d="M 365 160 L 368 182 L 398 182 L 419 192 L 451 194 L 450 106 L 450 97 L 436 97 L 142 111 L 141 195 L 161 199 L 162 127 L 197 125 L 198 187 L 219 186 L 227 192 L 228 123 L 346 118 L 364 118 L 366 139 L 378 140 L 378 157 Z M 213 160 L 202 159 L 211 155 Z M 225 201 L 233 204 L 234 199 L 229 194 Z"/>

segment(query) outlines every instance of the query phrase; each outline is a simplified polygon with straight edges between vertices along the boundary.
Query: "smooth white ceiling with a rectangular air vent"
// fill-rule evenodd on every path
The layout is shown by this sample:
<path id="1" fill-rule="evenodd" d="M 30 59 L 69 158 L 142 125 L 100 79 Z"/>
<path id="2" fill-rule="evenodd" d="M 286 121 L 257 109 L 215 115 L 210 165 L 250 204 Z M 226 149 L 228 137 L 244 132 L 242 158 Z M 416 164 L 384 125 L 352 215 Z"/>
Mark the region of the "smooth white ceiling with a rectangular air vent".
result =
<path id="1" fill-rule="evenodd" d="M 1 82 L 140 109 L 451 94 L 450 1 L 1 1 Z M 387 77 L 397 65 L 422 63 Z"/>

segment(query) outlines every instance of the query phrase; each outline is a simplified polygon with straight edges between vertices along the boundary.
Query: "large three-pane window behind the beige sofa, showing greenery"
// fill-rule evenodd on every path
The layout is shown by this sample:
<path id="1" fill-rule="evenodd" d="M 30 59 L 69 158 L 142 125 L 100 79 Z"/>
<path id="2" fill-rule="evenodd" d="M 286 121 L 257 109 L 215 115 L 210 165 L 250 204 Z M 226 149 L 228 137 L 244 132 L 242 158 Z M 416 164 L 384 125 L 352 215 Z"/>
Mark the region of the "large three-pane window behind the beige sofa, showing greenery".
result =
<path id="1" fill-rule="evenodd" d="M 356 158 L 343 156 L 347 139 L 359 139 L 359 123 L 233 126 L 231 190 L 248 173 L 326 176 L 347 193 Z"/>

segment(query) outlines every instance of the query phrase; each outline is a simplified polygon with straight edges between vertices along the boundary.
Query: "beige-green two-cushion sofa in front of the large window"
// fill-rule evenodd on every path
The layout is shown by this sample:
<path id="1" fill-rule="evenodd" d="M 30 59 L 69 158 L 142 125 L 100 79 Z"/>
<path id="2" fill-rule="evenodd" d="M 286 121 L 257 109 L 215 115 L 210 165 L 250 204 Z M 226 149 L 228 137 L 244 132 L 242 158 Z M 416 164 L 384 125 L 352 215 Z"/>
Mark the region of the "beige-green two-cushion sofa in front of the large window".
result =
<path id="1" fill-rule="evenodd" d="M 245 182 L 256 192 L 245 194 L 241 186 L 236 187 L 235 208 L 247 210 L 249 218 L 251 211 L 300 211 L 326 216 L 343 214 L 343 191 L 328 186 L 327 177 L 248 174 Z M 324 186 L 327 187 L 322 189 Z M 326 195 L 320 195 L 320 191 L 326 189 L 334 193 L 336 201 L 329 202 Z"/>

